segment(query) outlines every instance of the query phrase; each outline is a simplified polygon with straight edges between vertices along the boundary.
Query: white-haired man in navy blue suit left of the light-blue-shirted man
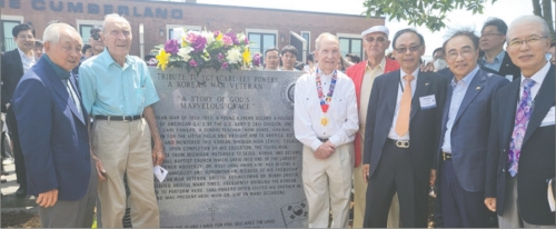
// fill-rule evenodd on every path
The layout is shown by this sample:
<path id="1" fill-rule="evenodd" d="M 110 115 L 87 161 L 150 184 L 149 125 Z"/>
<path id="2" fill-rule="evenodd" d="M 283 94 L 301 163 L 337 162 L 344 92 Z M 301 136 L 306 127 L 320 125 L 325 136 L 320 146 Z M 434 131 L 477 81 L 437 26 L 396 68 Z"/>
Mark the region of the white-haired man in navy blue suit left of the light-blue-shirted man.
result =
<path id="1" fill-rule="evenodd" d="M 26 158 L 28 193 L 37 197 L 42 227 L 92 225 L 97 172 L 89 151 L 87 112 L 70 73 L 81 58 L 79 33 L 66 23 L 47 27 L 44 56 L 13 93 Z"/>

